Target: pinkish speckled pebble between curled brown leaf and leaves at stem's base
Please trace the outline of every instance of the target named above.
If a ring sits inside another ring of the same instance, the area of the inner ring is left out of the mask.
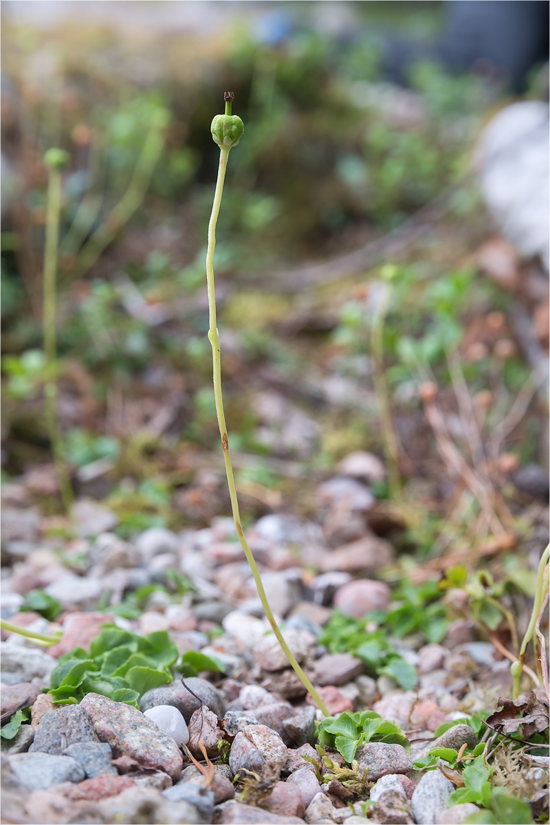
[[[287,759],[288,751],[278,733],[266,725],[249,724],[233,740],[229,766],[234,774],[246,768],[265,781],[279,780]]]

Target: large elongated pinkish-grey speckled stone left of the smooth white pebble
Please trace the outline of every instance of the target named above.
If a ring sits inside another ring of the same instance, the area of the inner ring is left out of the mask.
[[[172,780],[181,774],[183,759],[176,742],[138,709],[96,693],[88,693],[80,707],[87,710],[101,742],[109,742],[115,758],[125,754],[143,768],[165,771]]]

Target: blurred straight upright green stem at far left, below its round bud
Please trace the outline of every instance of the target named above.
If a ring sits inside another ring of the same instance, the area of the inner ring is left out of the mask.
[[[57,288],[56,276],[58,267],[59,247],[59,213],[61,211],[61,171],[59,168],[49,169],[48,204],[46,210],[46,237],[44,251],[44,352],[45,352],[45,416],[48,427],[49,441],[54,453],[55,470],[57,473],[59,492],[63,507],[67,514],[73,506],[73,488],[68,476],[67,462],[63,449],[63,439],[59,430],[58,392],[56,379],[57,358],[57,328],[56,304]]]

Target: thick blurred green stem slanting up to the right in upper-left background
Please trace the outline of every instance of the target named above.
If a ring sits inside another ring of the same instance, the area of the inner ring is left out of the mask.
[[[82,277],[96,263],[101,252],[111,243],[116,234],[128,223],[139,209],[153,177],[154,168],[162,154],[165,142],[165,128],[153,125],[143,143],[143,148],[134,168],[128,189],[117,205],[110,210],[100,226],[92,234],[79,252],[73,276]]]

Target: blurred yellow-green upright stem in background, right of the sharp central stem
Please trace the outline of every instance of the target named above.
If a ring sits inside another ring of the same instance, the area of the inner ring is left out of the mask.
[[[393,501],[401,502],[401,476],[397,462],[397,438],[393,429],[388,381],[386,380],[383,366],[383,329],[391,298],[392,290],[388,287],[387,293],[383,295],[380,304],[375,309],[370,339],[374,367],[374,390],[378,402],[378,417],[380,419],[383,449],[388,467],[389,493]]]

